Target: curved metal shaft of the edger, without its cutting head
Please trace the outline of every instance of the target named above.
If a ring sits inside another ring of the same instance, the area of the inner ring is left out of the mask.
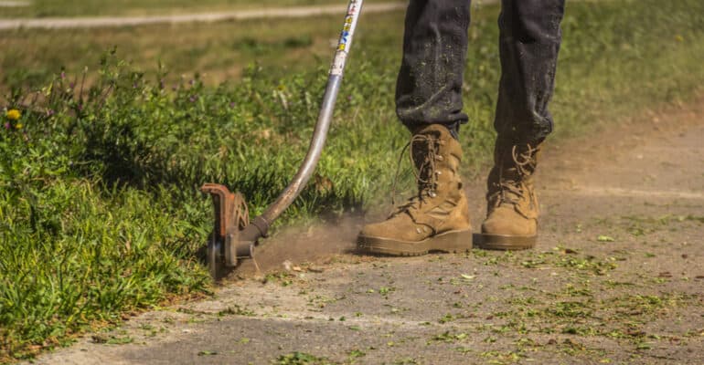
[[[352,36],[354,35],[355,28],[357,27],[357,19],[362,8],[362,2],[363,0],[350,0],[349,5],[347,6],[345,24],[337,45],[335,59],[332,67],[330,68],[329,77],[327,78],[327,86],[325,87],[323,103],[320,107],[320,113],[318,114],[318,120],[315,124],[313,139],[311,140],[310,147],[308,148],[308,153],[305,155],[304,162],[298,169],[298,173],[296,173],[293,177],[292,182],[289,183],[276,201],[272,203],[263,214],[261,214],[261,217],[259,217],[260,220],[264,221],[263,223],[260,221],[260,224],[267,225],[266,228],[259,227],[260,229],[264,228],[264,231],[268,229],[268,225],[272,224],[272,222],[278,218],[304,190],[305,184],[308,183],[308,180],[310,180],[311,175],[315,171],[315,166],[320,160],[320,153],[323,151],[323,147],[325,146],[327,131],[330,129],[330,122],[333,119],[333,111],[335,110],[337,93],[339,92],[340,85],[342,83],[342,74],[345,69],[345,64],[347,63],[349,48],[352,46]],[[254,223],[257,224],[257,220],[255,220]],[[266,232],[261,232],[261,235],[266,235]]]

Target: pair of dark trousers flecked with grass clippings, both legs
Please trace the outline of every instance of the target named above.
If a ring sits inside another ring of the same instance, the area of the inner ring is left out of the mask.
[[[494,127],[501,139],[542,141],[552,131],[548,102],[555,83],[564,0],[502,0]],[[470,0],[411,0],[406,13],[396,113],[409,129],[467,121],[462,82]]]

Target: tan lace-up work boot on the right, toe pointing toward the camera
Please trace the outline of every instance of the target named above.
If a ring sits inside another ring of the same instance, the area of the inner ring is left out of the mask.
[[[486,182],[486,219],[476,243],[480,248],[523,250],[536,245],[539,212],[533,173],[539,151],[539,143],[496,141],[494,168]]]

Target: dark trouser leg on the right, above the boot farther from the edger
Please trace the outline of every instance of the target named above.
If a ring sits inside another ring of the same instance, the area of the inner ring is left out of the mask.
[[[494,127],[500,137],[539,142],[552,131],[565,0],[503,0],[498,25],[501,80]]]

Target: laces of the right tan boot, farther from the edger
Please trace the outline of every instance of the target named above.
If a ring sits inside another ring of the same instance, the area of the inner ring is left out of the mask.
[[[497,197],[496,206],[502,203],[517,204],[524,197],[523,182],[535,171],[535,155],[539,151],[539,147],[534,148],[530,144],[526,146],[525,151],[519,151],[518,146],[514,145],[511,149],[513,166],[508,169],[501,166],[499,169],[499,189],[491,196],[492,199]]]

